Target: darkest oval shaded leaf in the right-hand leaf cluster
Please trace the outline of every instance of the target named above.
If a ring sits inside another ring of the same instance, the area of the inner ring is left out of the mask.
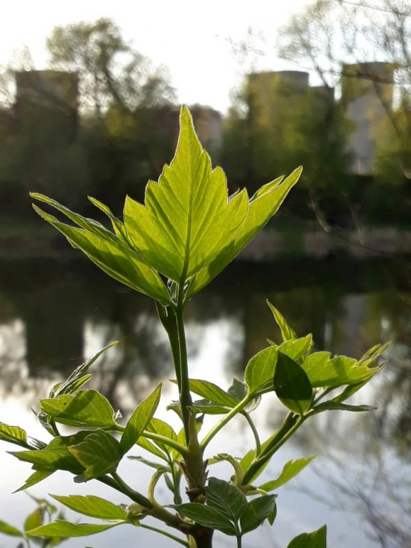
[[[312,388],[306,372],[286,354],[278,352],[274,375],[274,390],[288,409],[305,414],[312,401]]]

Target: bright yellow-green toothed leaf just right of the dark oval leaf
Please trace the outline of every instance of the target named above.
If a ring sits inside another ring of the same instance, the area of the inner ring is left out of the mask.
[[[301,367],[306,371],[314,388],[321,386],[337,388],[345,384],[358,384],[370,379],[379,371],[378,367],[369,369],[366,365],[360,365],[357,360],[347,356],[329,359],[328,352],[311,354],[301,363]]]

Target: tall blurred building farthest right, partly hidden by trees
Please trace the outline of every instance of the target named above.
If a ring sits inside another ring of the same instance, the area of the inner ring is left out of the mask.
[[[385,62],[343,65],[341,100],[353,126],[348,137],[353,173],[374,171],[378,133],[393,109],[394,70]]]

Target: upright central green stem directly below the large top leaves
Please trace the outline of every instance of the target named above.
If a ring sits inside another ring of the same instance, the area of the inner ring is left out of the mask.
[[[184,284],[180,283],[177,291],[177,307],[175,308],[175,320],[177,324],[177,337],[179,345],[179,401],[182,406],[182,419],[184,433],[186,434],[186,444],[190,443],[190,410],[192,399],[190,394],[190,383],[188,382],[188,362],[186,333],[184,331]]]

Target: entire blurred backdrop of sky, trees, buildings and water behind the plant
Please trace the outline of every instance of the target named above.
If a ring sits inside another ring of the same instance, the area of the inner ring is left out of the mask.
[[[28,192],[104,222],[92,195],[121,216],[125,195],[144,199],[170,162],[186,103],[231,192],[304,166],[275,219],[190,303],[192,376],[229,386],[267,337],[279,340],[266,297],[317,349],[359,358],[392,341],[358,400],[377,410],[312,419],[266,469],[319,455],[245,548],[285,547],[325,522],[333,548],[410,547],[410,1],[16,0],[3,6],[0,64],[0,421],[47,437],[30,408],[112,340],[92,383],[123,415],[171,377],[153,303],[71,249]],[[281,419],[270,397],[256,411],[266,436]],[[241,456],[249,439],[239,420],[210,451]],[[11,493],[29,470],[5,449],[0,519],[21,526],[34,503]],[[140,464],[123,471],[145,488]],[[126,502],[64,473],[32,489],[47,493]],[[219,547],[231,540],[216,535]],[[66,546],[85,542],[173,545],[130,526]],[[0,547],[17,545],[0,534]]]

